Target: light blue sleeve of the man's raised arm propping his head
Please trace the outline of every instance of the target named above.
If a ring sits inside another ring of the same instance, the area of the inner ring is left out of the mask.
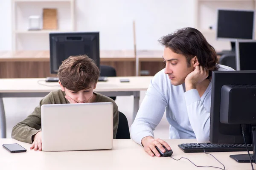
[[[198,142],[209,142],[210,113],[204,107],[196,89],[184,93],[189,122]]]

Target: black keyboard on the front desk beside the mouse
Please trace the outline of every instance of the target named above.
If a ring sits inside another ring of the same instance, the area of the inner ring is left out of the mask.
[[[245,144],[212,144],[212,143],[186,143],[178,144],[181,150],[185,153],[195,152],[233,152],[247,151]],[[253,150],[253,144],[247,144],[249,151]]]

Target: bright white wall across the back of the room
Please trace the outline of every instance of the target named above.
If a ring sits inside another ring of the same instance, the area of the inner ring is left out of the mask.
[[[195,10],[199,10],[198,26],[207,29],[216,23],[217,8],[254,9],[253,1],[199,1],[197,0],[75,0],[77,31],[100,31],[101,50],[131,50],[133,25],[136,22],[138,50],[158,50],[157,40],[182,27],[196,27]],[[18,3],[17,29],[27,30],[29,15],[41,15],[42,8],[58,8],[59,28],[70,25],[67,2]],[[0,0],[0,50],[12,47],[11,0]],[[201,31],[201,30],[200,30]],[[203,32],[217,51],[230,49],[230,42],[215,40],[214,32]],[[20,34],[18,49],[48,50],[48,34]]]

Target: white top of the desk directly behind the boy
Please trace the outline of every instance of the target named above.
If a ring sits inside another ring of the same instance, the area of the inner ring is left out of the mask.
[[[130,82],[120,82],[129,79]],[[98,82],[95,91],[146,91],[152,77],[108,77],[107,82]],[[0,93],[50,92],[58,90],[58,82],[45,82],[39,79],[0,79]]]

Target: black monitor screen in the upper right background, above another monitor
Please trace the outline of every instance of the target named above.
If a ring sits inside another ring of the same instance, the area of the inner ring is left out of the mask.
[[[218,10],[217,38],[253,39],[254,11]]]

